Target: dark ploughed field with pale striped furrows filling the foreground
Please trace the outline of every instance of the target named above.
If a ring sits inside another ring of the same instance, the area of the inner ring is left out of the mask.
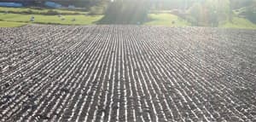
[[[0,121],[256,121],[256,31],[0,29]]]

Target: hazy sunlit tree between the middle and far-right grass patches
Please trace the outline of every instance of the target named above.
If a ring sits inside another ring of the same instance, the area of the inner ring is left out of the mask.
[[[230,0],[205,0],[189,8],[189,21],[195,26],[218,26],[224,20],[232,20]]]

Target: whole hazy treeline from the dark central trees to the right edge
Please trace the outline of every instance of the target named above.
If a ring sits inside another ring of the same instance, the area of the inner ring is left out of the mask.
[[[255,0],[102,0],[108,5],[101,22],[105,24],[137,24],[147,20],[148,12],[176,10],[175,14],[195,26],[218,26],[221,21],[232,22],[233,10],[247,8],[244,16],[256,21]],[[101,1],[101,3],[103,3]],[[100,3],[100,4],[101,4]],[[103,3],[104,4],[104,3]],[[254,4],[254,6],[253,6]],[[102,4],[101,4],[102,5]],[[254,13],[254,15],[253,15]]]

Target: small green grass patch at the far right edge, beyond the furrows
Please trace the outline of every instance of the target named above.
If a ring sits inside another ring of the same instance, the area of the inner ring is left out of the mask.
[[[256,25],[253,24],[253,22],[244,18],[239,18],[239,17],[234,17],[232,22],[225,21],[223,24],[220,24],[219,27],[256,29]]]

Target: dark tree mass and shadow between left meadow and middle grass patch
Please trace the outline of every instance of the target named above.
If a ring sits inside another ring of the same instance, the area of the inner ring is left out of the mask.
[[[142,24],[147,20],[148,9],[146,0],[118,0],[109,3],[104,17],[96,24]]]

